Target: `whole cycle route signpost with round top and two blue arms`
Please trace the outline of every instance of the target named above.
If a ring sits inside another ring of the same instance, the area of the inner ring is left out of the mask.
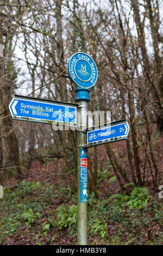
[[[37,99],[15,95],[9,109],[13,119],[46,124],[63,124],[78,129],[78,245],[87,245],[87,148],[127,139],[129,125],[120,120],[101,127],[87,129],[89,92],[97,81],[98,71],[93,59],[77,52],[68,60],[68,74],[76,84],[78,103]],[[77,114],[78,113],[78,114]]]

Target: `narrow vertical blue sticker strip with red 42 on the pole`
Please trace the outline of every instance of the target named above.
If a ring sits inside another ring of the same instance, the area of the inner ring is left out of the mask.
[[[87,149],[80,149],[80,202],[87,202]]]

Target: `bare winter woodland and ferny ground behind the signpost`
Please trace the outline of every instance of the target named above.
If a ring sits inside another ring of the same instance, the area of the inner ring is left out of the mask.
[[[14,94],[74,102],[67,62],[78,51],[98,68],[89,110],[130,125],[127,141],[89,149],[89,243],[162,243],[162,10],[161,0],[0,2],[0,243],[76,241],[77,131],[13,121],[8,106]]]

